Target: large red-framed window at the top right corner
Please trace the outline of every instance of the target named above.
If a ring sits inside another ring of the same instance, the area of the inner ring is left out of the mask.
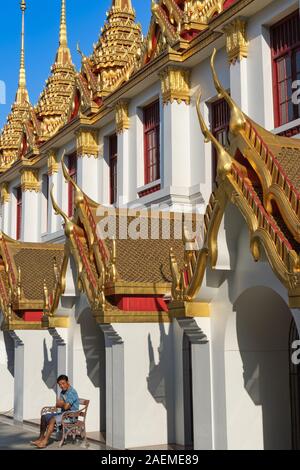
[[[292,102],[293,82],[300,79],[299,11],[271,28],[275,127],[300,117],[300,106]]]

